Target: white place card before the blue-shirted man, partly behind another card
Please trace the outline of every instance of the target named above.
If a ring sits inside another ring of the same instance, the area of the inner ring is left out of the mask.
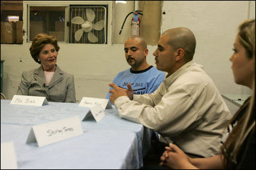
[[[93,108],[97,104],[101,104],[101,107],[103,110],[112,108],[109,99],[100,99],[100,98],[93,98],[93,97],[83,97],[83,99],[79,103],[79,106]]]

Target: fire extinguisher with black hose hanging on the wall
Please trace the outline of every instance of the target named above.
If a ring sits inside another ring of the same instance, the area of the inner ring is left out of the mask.
[[[133,13],[133,17],[132,17],[132,21],[131,21],[131,27],[132,27],[132,35],[140,35],[140,17],[139,17],[139,14],[140,15],[143,15],[142,13],[140,13],[138,10],[136,11],[132,11],[130,13],[128,13],[128,15],[126,15],[125,17],[125,20],[124,20],[124,23],[122,25],[122,28],[120,29],[120,32],[119,34],[121,34],[122,30],[123,30],[123,27],[124,27],[124,24],[125,24],[125,21],[127,19],[127,17]]]

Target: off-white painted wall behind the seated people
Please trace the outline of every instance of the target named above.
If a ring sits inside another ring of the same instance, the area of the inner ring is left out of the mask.
[[[115,25],[118,25],[116,28],[122,26],[129,10],[113,9],[115,15],[122,15],[112,22],[113,37]],[[191,29],[197,41],[195,61],[204,65],[221,93],[250,93],[250,90],[234,83],[228,59],[232,54],[237,26],[246,18],[255,18],[255,1],[163,1],[163,11],[166,14],[161,13],[160,32],[172,27]],[[26,19],[25,10],[23,18]],[[112,45],[60,43],[58,65],[74,74],[77,102],[84,96],[105,98],[108,83],[118,72],[129,67],[124,57],[123,40],[116,40]],[[1,45],[1,59],[5,60],[3,93],[8,99],[12,99],[17,91],[22,71],[39,66],[29,54],[30,45],[25,40],[22,45]],[[148,49],[148,63],[155,66],[152,53],[156,45],[149,45]]]

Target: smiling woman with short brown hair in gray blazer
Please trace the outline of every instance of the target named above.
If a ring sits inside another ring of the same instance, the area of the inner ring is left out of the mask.
[[[55,36],[37,34],[29,48],[31,56],[41,64],[37,69],[24,71],[17,95],[46,97],[47,101],[76,103],[74,75],[57,66],[60,46]]]

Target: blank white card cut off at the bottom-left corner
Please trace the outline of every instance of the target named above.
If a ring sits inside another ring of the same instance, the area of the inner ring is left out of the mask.
[[[1,169],[18,169],[13,142],[1,143]]]

